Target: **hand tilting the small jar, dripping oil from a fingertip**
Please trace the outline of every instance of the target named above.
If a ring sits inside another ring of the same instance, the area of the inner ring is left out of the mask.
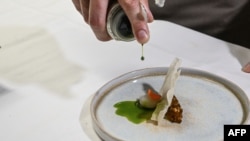
[[[109,41],[111,37],[106,30],[106,17],[109,0],[72,0],[76,9],[81,13],[85,22],[90,25],[96,38]],[[144,44],[149,40],[147,23],[153,21],[153,15],[148,6],[148,0],[118,0],[130,20],[136,40]],[[141,5],[145,8],[143,16]]]

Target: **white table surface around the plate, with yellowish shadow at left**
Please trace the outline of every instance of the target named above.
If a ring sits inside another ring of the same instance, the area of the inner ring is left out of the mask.
[[[250,97],[244,47],[155,21],[141,61],[136,41],[98,41],[69,0],[1,0],[0,7],[0,140],[93,140],[80,124],[90,97],[119,75],[176,57]]]

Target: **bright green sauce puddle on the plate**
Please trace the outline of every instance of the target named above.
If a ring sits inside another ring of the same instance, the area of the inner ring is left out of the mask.
[[[151,118],[154,109],[139,107],[137,101],[122,101],[114,105],[116,114],[126,117],[129,121],[139,124]]]

